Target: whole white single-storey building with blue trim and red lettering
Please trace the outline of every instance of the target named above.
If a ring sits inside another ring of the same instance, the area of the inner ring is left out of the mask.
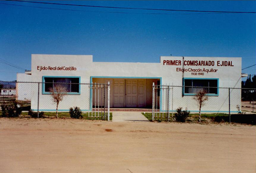
[[[111,108],[151,108],[153,82],[155,85],[240,88],[241,58],[160,57],[160,62],[157,63],[140,63],[93,62],[91,55],[32,54],[31,75],[17,74],[17,81],[29,81],[30,78],[32,82],[70,82],[69,93],[59,105],[59,111],[68,111],[73,106],[80,107],[82,111],[90,110],[92,91],[88,86],[76,87],[72,83],[92,82],[110,82]],[[37,109],[38,106],[37,86],[38,84],[31,85],[27,89],[31,91],[32,109]],[[55,105],[51,103],[48,91],[50,86],[43,83],[39,87],[40,111],[54,111]],[[17,88],[20,94],[20,86]],[[173,94],[170,93],[173,96],[173,109],[183,107],[192,112],[197,111],[193,100],[195,92],[182,88],[175,88]],[[29,98],[21,95],[21,99]],[[228,90],[212,89],[208,96],[208,104],[202,112],[229,111]],[[164,110],[162,95],[159,99],[160,109]],[[241,91],[237,91],[232,100],[231,112],[236,112],[236,105],[241,105]]]

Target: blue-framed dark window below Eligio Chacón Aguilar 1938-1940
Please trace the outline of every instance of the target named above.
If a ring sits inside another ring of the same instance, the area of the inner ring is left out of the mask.
[[[198,79],[184,78],[183,79],[183,95],[195,95],[198,91],[205,90],[209,96],[218,96],[218,79]],[[204,88],[205,87],[205,88]]]

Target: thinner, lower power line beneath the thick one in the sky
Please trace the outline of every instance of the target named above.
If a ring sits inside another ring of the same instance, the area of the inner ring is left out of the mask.
[[[11,6],[23,6],[17,4],[9,4],[9,3],[0,3],[4,5],[11,5]],[[38,7],[38,6],[23,6],[23,7],[32,7],[32,8],[39,8],[39,9],[54,9],[54,10],[65,10],[65,11],[84,11],[84,12],[99,12],[99,13],[120,13],[120,14],[224,14],[224,13],[134,13],[134,12],[113,12],[113,11],[88,11],[88,10],[73,10],[73,9],[60,9],[60,8],[49,8],[49,7]],[[227,13],[225,13],[227,14]],[[230,13],[231,14],[231,13]]]

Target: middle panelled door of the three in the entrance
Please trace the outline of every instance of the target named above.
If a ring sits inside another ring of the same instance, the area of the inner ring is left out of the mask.
[[[126,79],[125,82],[125,107],[137,108],[137,91],[138,91],[137,79]]]

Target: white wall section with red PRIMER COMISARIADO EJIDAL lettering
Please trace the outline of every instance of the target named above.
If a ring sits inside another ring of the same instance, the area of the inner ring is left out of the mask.
[[[164,60],[180,60],[181,65],[163,65]],[[183,61],[188,60],[204,60],[214,61],[214,66],[182,66]],[[217,62],[232,61],[233,66],[218,66]],[[227,58],[227,57],[161,57],[163,71],[170,71],[169,75],[163,77],[162,84],[173,84],[182,86],[183,78],[217,78],[219,87],[227,89],[219,89],[218,96],[209,96],[208,101],[202,108],[203,112],[228,112],[229,111],[229,93],[228,88],[241,88],[241,58]],[[215,69],[216,72],[204,72],[204,75],[193,75],[192,72],[180,72],[177,68],[193,68],[193,69]],[[173,109],[178,107],[188,108],[192,112],[198,112],[198,106],[193,99],[193,96],[182,96],[182,88],[173,88]],[[171,93],[172,94],[172,91]],[[163,94],[164,95],[164,94]],[[237,112],[236,105],[241,105],[241,90],[231,90],[230,107],[232,112]],[[172,104],[172,103],[171,103]],[[170,105],[171,106],[171,105]],[[162,108],[166,105],[163,103]]]

